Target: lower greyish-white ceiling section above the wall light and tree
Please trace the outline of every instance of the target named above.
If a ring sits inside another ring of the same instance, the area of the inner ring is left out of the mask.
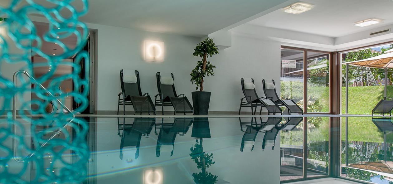
[[[88,23],[201,37],[287,0],[90,0]]]

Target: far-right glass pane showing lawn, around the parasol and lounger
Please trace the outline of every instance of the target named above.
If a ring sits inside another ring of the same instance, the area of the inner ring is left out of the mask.
[[[385,70],[367,66],[348,65],[347,62],[368,59],[387,53],[393,44],[341,53],[342,64],[342,113],[346,109],[346,82],[348,81],[348,114],[371,114],[371,110],[384,97]],[[393,97],[393,69],[387,68],[387,97]],[[366,100],[359,100],[366,99]]]

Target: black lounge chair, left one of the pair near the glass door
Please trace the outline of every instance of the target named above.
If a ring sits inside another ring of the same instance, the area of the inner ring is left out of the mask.
[[[248,80],[250,81],[245,82],[244,78],[240,79],[244,98],[240,99],[239,115],[242,107],[251,107],[251,114],[254,115],[258,106],[261,106],[259,114],[262,112],[262,107],[265,107],[268,110],[268,114],[283,114],[281,108],[272,99],[268,99],[266,97],[259,98],[255,91],[254,79],[248,78]],[[246,99],[246,101],[243,101],[244,99]],[[253,108],[255,108],[255,110],[253,110]]]

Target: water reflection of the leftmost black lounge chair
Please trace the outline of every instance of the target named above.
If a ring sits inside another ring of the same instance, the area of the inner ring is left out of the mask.
[[[120,142],[120,159],[123,160],[123,155],[133,154],[134,158],[139,156],[139,148],[141,143],[142,135],[148,136],[153,128],[156,118],[134,118],[132,124],[125,124],[125,118],[123,119],[123,124],[119,123],[118,118],[118,130],[123,130]],[[127,151],[124,151],[126,149]],[[127,154],[126,154],[127,153]]]

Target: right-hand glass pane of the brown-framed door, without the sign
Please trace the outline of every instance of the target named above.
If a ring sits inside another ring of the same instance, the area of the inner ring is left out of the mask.
[[[307,112],[330,112],[330,54],[307,51]]]

